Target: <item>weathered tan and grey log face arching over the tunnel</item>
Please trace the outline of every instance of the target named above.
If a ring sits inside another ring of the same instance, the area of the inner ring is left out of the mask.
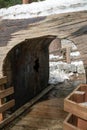
[[[83,11],[34,19],[1,20],[0,75],[2,76],[3,60],[14,46],[25,39],[46,35],[55,35],[75,42],[85,68],[87,67],[87,11]]]

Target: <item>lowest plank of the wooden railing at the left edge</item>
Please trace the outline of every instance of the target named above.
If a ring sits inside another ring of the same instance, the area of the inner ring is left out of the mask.
[[[0,105],[0,113],[8,110],[9,108],[13,107],[15,105],[15,100],[12,99],[11,101],[4,103],[2,105]]]

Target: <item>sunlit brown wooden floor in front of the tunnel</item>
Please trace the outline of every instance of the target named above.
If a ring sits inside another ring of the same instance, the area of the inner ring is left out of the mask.
[[[40,100],[8,130],[62,130],[67,115],[63,110],[63,101],[63,98]]]

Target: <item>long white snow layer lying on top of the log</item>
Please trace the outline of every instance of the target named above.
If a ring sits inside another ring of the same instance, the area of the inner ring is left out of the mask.
[[[0,9],[3,19],[23,19],[87,10],[87,0],[45,0]]]

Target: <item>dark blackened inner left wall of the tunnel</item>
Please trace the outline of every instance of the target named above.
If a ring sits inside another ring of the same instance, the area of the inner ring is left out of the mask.
[[[8,86],[14,86],[15,107],[20,108],[48,85],[50,42],[55,36],[27,39],[12,50],[4,59],[3,75]]]

